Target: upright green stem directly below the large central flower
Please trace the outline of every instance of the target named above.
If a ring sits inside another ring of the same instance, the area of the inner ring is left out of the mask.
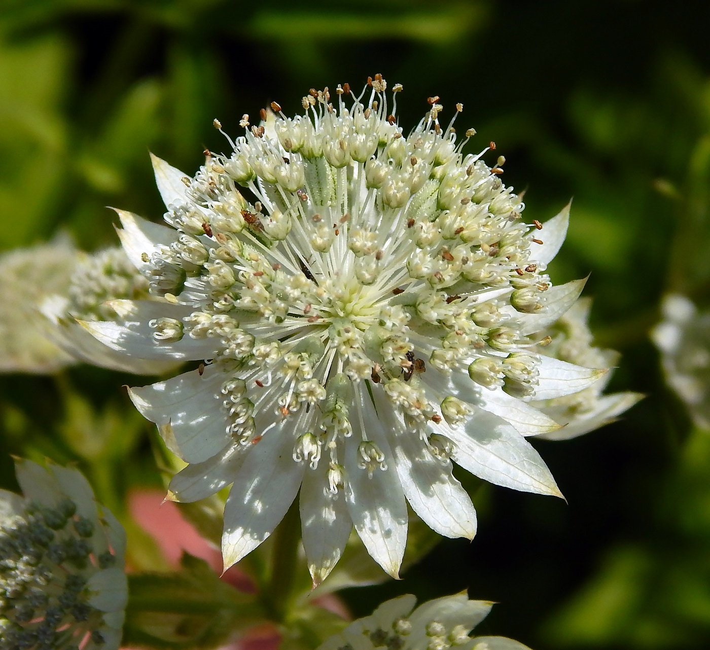
[[[293,600],[298,543],[301,539],[298,500],[294,500],[273,536],[271,575],[264,591],[273,620],[284,622]]]

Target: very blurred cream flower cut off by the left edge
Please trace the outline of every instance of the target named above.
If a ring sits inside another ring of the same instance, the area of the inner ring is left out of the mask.
[[[0,373],[54,373],[75,363],[48,338],[38,304],[66,295],[79,253],[68,238],[0,255]]]

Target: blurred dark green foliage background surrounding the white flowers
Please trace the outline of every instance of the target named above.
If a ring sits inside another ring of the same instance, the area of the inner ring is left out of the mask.
[[[4,0],[0,250],[62,230],[114,244],[107,205],[159,219],[148,150],[191,174],[226,148],[214,118],[237,135],[268,101],[293,113],[311,87],[376,72],[403,84],[405,128],[427,97],[461,101],[457,126],[478,131],[467,150],[496,142],[528,223],[574,197],[551,275],[591,273],[596,341],[623,353],[611,388],[649,397],[537,444],[569,505],[486,487],[473,543],[343,596],[364,615],[469,588],[501,603],[479,634],[537,650],[706,649],[710,434],[665,389],[648,329],[667,290],[710,304],[709,27],[707,4],[642,0]],[[126,382],[86,367],[0,378],[0,482],[10,453],[35,453],[80,460],[118,511],[126,487],[160,485]]]

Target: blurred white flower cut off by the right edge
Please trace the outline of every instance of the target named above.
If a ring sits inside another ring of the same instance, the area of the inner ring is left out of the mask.
[[[710,429],[710,312],[669,294],[661,303],[663,320],[651,332],[661,352],[665,380],[684,402],[693,422]]]

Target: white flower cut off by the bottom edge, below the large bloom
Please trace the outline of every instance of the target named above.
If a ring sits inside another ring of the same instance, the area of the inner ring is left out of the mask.
[[[458,594],[413,610],[416,602],[409,594],[383,602],[371,616],[352,622],[318,650],[529,650],[505,637],[469,637],[491,611],[492,602]]]

